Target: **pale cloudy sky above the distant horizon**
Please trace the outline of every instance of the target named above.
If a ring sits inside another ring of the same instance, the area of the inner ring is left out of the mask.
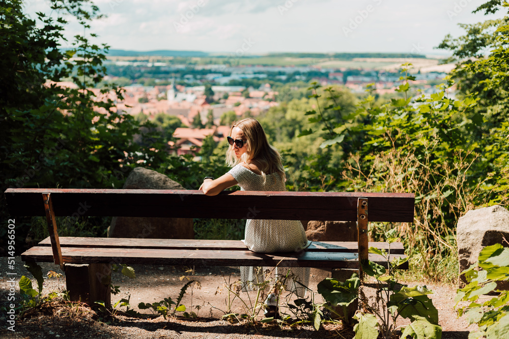
[[[271,52],[398,52],[435,49],[459,23],[505,14],[471,12],[487,0],[95,0],[96,43],[136,51],[192,50],[237,55]],[[28,13],[49,13],[27,0]],[[82,33],[77,24],[67,35]]]

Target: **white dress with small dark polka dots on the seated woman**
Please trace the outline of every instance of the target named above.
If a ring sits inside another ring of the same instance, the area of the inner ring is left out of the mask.
[[[285,183],[278,173],[266,175],[264,183],[263,176],[252,172],[241,164],[232,168],[229,172],[242,191],[286,191]],[[247,248],[257,253],[297,252],[301,251],[311,241],[307,240],[302,224],[298,220],[262,220],[248,219],[246,222],[245,239],[242,240]],[[299,297],[304,296],[305,288],[296,284],[298,281],[304,286],[309,284],[309,267],[288,268],[267,267],[269,271],[274,270],[277,279],[283,281],[287,291],[296,291]],[[241,280],[244,283],[244,290],[249,290],[250,283],[258,284],[267,279],[264,273],[267,270],[261,267],[241,267]],[[293,279],[286,279],[290,276]]]

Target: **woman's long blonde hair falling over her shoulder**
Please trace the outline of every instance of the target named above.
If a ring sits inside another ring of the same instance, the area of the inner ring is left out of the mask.
[[[266,174],[272,173],[278,173],[279,177],[285,182],[285,169],[281,162],[281,155],[276,148],[269,144],[260,122],[253,118],[236,121],[230,129],[230,136],[232,136],[232,131],[235,127],[241,129],[244,137],[247,139],[247,143],[244,144],[244,147],[247,147],[247,149],[241,158],[237,159],[233,147],[228,147],[226,163],[234,167],[240,162],[249,164],[256,161],[258,169],[262,172],[264,182]]]

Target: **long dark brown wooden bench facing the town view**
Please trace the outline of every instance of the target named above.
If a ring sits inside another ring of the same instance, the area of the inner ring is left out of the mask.
[[[66,274],[71,300],[110,303],[111,264],[280,266],[359,269],[359,260],[386,266],[369,254],[371,222],[413,222],[414,195],[224,191],[206,196],[187,190],[8,189],[11,216],[45,216],[49,237],[21,254],[25,262],[54,262]],[[313,242],[300,253],[261,254],[240,240],[59,237],[55,217],[123,216],[221,219],[357,221],[358,242]],[[401,242],[390,256],[405,257]],[[408,268],[405,263],[401,268]],[[361,276],[362,276],[362,271]]]

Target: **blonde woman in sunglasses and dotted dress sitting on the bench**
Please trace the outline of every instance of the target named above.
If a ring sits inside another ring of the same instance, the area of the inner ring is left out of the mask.
[[[206,177],[200,190],[206,195],[216,195],[232,186],[240,186],[242,191],[286,191],[285,170],[281,164],[279,152],[269,144],[260,122],[247,118],[235,122],[228,136],[231,147],[226,153],[226,162],[233,168],[217,179]],[[235,208],[232,205],[232,208]],[[298,252],[311,241],[307,240],[304,228],[298,220],[256,220],[246,222],[245,239],[247,248],[257,253]],[[275,268],[275,275],[282,281],[287,275],[290,282],[285,281],[287,291],[295,291],[299,297],[305,294],[304,286],[309,283],[309,267],[293,267],[291,274],[288,269]],[[282,270],[282,272],[281,272]],[[264,269],[260,267],[241,267],[243,290],[249,290],[249,283],[264,281]],[[298,285],[298,286],[297,286]],[[269,294],[265,303],[266,317],[279,317],[277,310],[277,284]]]

